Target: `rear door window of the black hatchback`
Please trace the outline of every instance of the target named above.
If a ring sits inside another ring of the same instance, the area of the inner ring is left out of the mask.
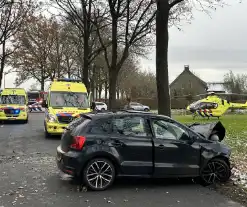
[[[125,136],[146,137],[145,119],[142,117],[120,117],[113,119],[113,133]]]

